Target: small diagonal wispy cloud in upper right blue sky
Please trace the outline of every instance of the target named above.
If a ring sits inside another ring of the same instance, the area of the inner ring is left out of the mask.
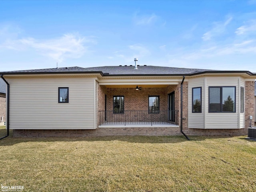
[[[232,17],[229,17],[224,22],[214,22],[214,27],[209,30],[208,32],[204,33],[202,39],[204,41],[211,40],[215,36],[219,36],[223,34],[226,30],[226,26],[232,21]]]

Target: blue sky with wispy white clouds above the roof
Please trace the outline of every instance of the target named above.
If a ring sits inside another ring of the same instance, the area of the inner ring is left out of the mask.
[[[0,0],[0,71],[134,58],[256,72],[256,0]]]

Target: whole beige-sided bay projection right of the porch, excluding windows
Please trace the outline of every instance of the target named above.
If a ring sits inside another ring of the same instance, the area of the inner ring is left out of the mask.
[[[209,86],[236,87],[236,112],[209,113]],[[192,113],[192,88],[202,87],[202,113]],[[245,88],[243,78],[202,77],[190,78],[188,82],[188,128],[237,129],[245,126],[245,112],[240,113],[240,87]]]

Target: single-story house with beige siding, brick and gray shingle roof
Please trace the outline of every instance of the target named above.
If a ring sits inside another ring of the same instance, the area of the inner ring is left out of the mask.
[[[0,72],[14,136],[246,135],[249,71],[160,66]],[[254,125],[253,125],[254,126]]]

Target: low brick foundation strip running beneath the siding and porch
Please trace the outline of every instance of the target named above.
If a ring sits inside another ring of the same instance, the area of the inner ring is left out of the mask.
[[[247,135],[245,129],[189,129],[188,136],[240,136]],[[13,137],[97,137],[97,136],[176,136],[182,135],[180,128],[143,127],[143,128],[98,128],[90,130],[13,130]]]

